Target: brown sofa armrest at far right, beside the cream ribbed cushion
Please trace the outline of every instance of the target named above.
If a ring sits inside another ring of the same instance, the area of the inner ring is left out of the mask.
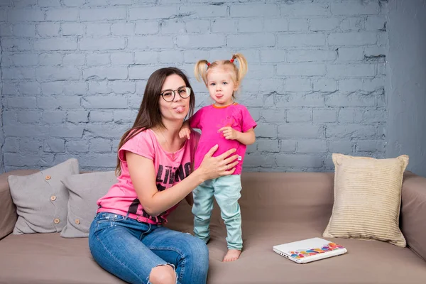
[[[426,178],[404,174],[400,215],[408,246],[426,261]]]

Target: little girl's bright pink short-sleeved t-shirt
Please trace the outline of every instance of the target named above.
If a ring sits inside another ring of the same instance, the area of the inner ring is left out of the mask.
[[[257,124],[251,117],[249,110],[241,104],[234,103],[227,107],[216,107],[212,104],[197,111],[190,118],[190,127],[192,129],[201,129],[202,132],[195,152],[195,169],[200,166],[204,155],[214,145],[218,144],[219,148],[214,153],[214,157],[231,148],[236,148],[236,154],[240,158],[234,175],[241,174],[247,146],[236,140],[226,140],[222,131],[219,132],[219,129],[224,126],[231,126],[236,131],[246,132],[251,128],[255,128]]]

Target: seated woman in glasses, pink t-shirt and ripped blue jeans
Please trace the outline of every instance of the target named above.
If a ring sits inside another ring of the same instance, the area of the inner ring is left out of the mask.
[[[195,107],[185,74],[173,67],[153,72],[133,127],[119,143],[117,182],[97,204],[89,248],[102,268],[129,283],[205,283],[204,242],[165,228],[168,214],[205,180],[234,173],[235,149],[205,155],[192,172],[198,134],[179,138]],[[192,173],[191,173],[192,172]]]

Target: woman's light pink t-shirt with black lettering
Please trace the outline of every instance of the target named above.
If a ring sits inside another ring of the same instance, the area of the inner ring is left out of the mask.
[[[174,155],[161,148],[155,133],[151,129],[141,131],[131,138],[119,149],[121,175],[117,178],[116,184],[109,189],[107,195],[97,201],[99,207],[97,212],[111,212],[124,216],[129,214],[129,217],[133,219],[151,224],[166,223],[168,214],[178,207],[178,204],[156,217],[150,216],[143,210],[131,182],[126,162],[126,151],[153,160],[157,189],[163,191],[168,190],[169,187],[190,175],[191,160],[194,159],[199,138],[200,134],[191,133],[191,139],[186,141],[185,145]]]

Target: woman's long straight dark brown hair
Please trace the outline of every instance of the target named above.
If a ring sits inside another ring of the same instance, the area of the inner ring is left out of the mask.
[[[121,175],[121,163],[119,158],[119,149],[121,146],[123,146],[127,141],[136,136],[138,133],[141,133],[141,131],[151,129],[154,126],[164,127],[163,121],[161,120],[158,99],[160,98],[161,89],[163,88],[165,79],[170,75],[178,75],[185,82],[186,87],[191,88],[190,111],[188,112],[188,116],[191,117],[192,114],[194,114],[195,94],[192,91],[190,81],[186,77],[185,73],[175,67],[161,68],[153,72],[153,74],[149,77],[148,82],[146,83],[141,107],[139,108],[136,120],[131,129],[126,131],[124,135],[121,136],[121,141],[117,149],[117,165],[115,170],[117,176]]]

